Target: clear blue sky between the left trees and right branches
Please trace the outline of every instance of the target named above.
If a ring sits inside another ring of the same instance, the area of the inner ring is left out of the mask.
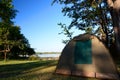
[[[63,16],[59,4],[51,6],[51,3],[52,0],[13,0],[19,11],[15,25],[21,27],[21,33],[35,51],[60,52],[65,46],[62,39],[66,37],[58,34],[61,28],[57,24],[69,24],[71,19]]]

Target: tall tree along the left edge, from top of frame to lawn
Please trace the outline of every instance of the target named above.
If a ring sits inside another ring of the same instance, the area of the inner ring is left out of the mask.
[[[8,37],[15,15],[16,10],[12,5],[12,0],[0,0],[0,45],[2,46],[0,52],[4,52],[5,60],[7,52],[10,51],[10,45],[13,44]]]

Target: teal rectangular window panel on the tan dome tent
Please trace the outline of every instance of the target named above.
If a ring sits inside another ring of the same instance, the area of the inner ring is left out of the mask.
[[[91,40],[76,41],[74,51],[75,64],[92,64]]]

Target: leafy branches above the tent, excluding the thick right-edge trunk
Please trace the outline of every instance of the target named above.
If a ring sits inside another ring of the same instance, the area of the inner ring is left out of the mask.
[[[67,26],[68,31],[72,27],[76,27],[79,30],[96,34],[99,27],[102,27],[106,35],[106,42],[111,39],[111,35],[113,35],[112,19],[105,0],[53,0],[53,3],[55,2],[63,6],[64,16],[72,19]]]

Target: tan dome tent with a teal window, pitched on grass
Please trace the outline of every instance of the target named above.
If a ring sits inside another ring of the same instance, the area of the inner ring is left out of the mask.
[[[108,49],[96,37],[82,34],[63,49],[55,73],[103,79],[118,79],[117,69]]]

